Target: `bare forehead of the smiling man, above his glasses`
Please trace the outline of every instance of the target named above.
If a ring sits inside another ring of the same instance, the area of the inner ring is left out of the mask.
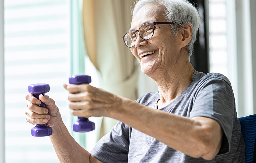
[[[158,4],[146,4],[134,15],[131,30],[134,31],[145,23],[165,21],[163,15],[164,9],[162,6]]]

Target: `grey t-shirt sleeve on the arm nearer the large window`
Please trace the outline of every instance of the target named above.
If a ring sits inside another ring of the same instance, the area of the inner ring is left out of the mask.
[[[102,162],[127,162],[129,150],[129,126],[118,121],[90,151]]]

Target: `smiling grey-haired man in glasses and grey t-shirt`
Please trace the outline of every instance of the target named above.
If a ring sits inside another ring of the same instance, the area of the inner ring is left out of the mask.
[[[140,0],[123,40],[158,91],[133,101],[88,84],[64,85],[72,115],[119,120],[90,153],[71,137],[48,96],[39,97],[48,110],[26,96],[27,121],[53,128],[61,162],[244,162],[230,82],[189,62],[198,28],[197,9],[186,0]]]

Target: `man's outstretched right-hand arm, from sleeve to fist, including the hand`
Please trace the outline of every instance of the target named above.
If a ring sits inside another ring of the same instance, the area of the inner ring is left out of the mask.
[[[211,118],[187,118],[154,110],[88,84],[64,85],[75,116],[107,116],[155,137],[191,157],[211,160],[221,147],[222,129]]]

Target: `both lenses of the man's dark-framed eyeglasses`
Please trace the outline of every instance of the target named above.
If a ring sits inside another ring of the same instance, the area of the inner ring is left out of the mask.
[[[139,28],[139,35],[142,39],[144,40],[148,40],[153,36],[154,33],[154,29],[150,24],[145,24],[142,25]],[[138,35],[137,35],[138,36]],[[128,32],[126,33],[126,35],[124,36],[124,42],[128,47],[132,47],[135,45],[136,42],[136,38],[137,36],[135,36],[134,32]]]

